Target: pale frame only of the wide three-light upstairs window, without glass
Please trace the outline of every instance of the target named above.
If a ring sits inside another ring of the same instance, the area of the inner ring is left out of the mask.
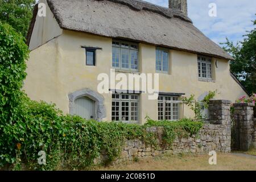
[[[114,43],[119,43],[119,45],[116,45]],[[128,47],[122,47],[122,43],[128,44]],[[134,48],[132,46],[137,46],[137,48]],[[113,66],[113,57],[112,57],[112,68],[118,69],[118,70],[124,70],[124,71],[139,71],[139,44],[138,43],[133,43],[133,42],[127,42],[127,41],[122,41],[122,40],[112,40],[112,49],[113,48],[118,48],[119,49],[119,67],[114,67]],[[129,51],[129,68],[122,68],[122,55],[121,52],[122,50],[128,50]],[[131,68],[131,52],[132,51],[137,51],[137,69]],[[112,56],[113,56],[113,51],[112,51]]]

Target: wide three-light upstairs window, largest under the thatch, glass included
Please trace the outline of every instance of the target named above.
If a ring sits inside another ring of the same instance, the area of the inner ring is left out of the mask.
[[[139,47],[136,43],[113,40],[112,67],[127,71],[139,69]]]

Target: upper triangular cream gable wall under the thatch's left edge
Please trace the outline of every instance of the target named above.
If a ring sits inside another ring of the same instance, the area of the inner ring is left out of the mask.
[[[40,0],[39,3],[45,3],[47,5],[46,0]],[[36,22],[31,35],[29,48],[30,50],[33,50],[61,34],[62,29],[53,17],[49,6],[46,6],[46,16],[36,16]]]

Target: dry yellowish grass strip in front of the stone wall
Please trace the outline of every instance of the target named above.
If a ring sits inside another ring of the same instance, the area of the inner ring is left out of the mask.
[[[217,154],[217,165],[209,165],[208,155],[165,155],[155,159],[140,159],[139,162],[119,164],[117,166],[101,167],[97,170],[131,170],[131,171],[255,171],[256,159],[234,156],[232,154]]]

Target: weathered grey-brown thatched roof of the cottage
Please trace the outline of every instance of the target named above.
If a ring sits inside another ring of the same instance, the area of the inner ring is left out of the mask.
[[[59,26],[233,59],[181,11],[139,0],[47,0]]]

